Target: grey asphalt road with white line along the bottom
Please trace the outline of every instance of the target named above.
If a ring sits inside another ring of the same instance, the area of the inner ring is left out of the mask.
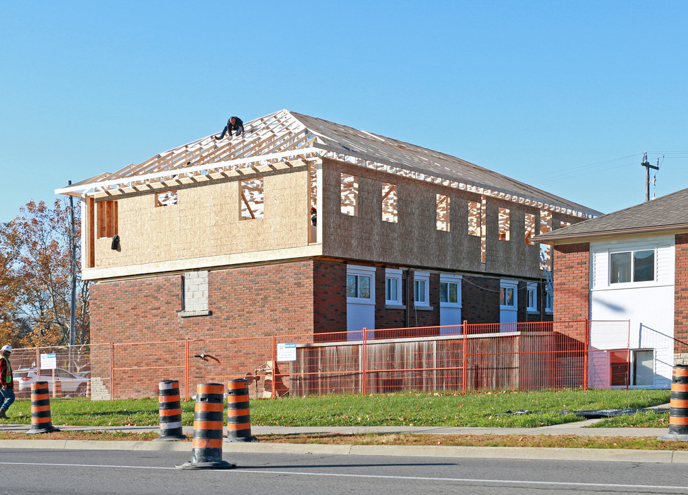
[[[186,452],[0,449],[0,494],[688,494],[685,465],[226,453],[233,470],[178,470]]]

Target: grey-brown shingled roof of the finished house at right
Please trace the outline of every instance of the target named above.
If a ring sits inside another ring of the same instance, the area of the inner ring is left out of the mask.
[[[533,237],[535,242],[557,244],[568,240],[608,235],[652,233],[688,229],[688,189],[636,204],[598,218],[585,220]]]

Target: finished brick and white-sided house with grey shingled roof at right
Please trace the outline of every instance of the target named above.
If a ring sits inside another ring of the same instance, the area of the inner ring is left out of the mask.
[[[592,386],[669,388],[688,364],[687,211],[683,189],[535,238],[554,245],[555,321],[593,321]]]

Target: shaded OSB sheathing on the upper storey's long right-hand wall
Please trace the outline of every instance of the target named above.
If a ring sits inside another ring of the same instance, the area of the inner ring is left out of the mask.
[[[340,211],[340,174],[358,178],[358,216]],[[382,185],[398,185],[398,223],[382,220]],[[436,194],[450,198],[450,231],[436,229]],[[539,210],[487,198],[487,261],[480,237],[468,234],[468,201],[480,195],[335,160],[323,160],[323,255],[385,264],[539,277],[537,245],[525,243],[525,213]],[[499,207],[510,211],[510,240],[498,238]],[[568,217],[566,217],[568,218]]]

